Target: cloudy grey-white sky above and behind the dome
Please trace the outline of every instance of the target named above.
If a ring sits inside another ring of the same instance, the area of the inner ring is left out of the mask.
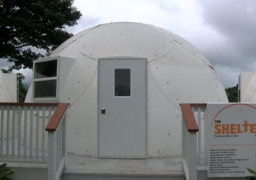
[[[236,86],[241,72],[256,71],[255,0],[75,0],[74,6],[83,16],[66,28],[70,33],[109,22],[152,24],[192,43],[226,88]],[[21,73],[25,83],[32,80],[31,71]]]

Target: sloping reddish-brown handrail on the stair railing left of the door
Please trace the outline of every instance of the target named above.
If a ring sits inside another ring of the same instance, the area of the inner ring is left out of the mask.
[[[56,131],[69,103],[60,103],[46,126],[46,131]]]

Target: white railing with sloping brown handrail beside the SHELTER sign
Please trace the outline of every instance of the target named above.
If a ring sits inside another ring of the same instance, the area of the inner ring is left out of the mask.
[[[206,105],[181,104],[182,165],[187,180],[197,179],[197,166],[206,164]]]

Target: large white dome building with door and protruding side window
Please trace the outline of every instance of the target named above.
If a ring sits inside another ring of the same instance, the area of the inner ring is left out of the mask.
[[[210,62],[156,26],[84,30],[34,61],[26,102],[69,102],[67,151],[99,158],[181,155],[180,103],[228,102]]]

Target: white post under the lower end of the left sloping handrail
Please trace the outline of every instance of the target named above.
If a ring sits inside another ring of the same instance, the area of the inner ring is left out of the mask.
[[[56,136],[55,132],[48,132],[48,180],[55,180],[56,174]]]

